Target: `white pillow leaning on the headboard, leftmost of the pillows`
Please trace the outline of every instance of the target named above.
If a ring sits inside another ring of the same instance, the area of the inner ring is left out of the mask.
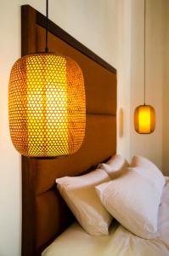
[[[60,194],[77,221],[90,235],[109,234],[112,217],[99,201],[95,186],[110,181],[109,175],[97,169],[82,176],[56,179]]]

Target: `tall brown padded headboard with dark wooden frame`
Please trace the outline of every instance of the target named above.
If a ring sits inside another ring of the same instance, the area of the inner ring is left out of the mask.
[[[29,5],[21,7],[22,55],[45,46],[46,18]],[[116,151],[116,71],[52,21],[49,51],[69,55],[82,67],[87,98],[87,126],[82,148],[53,160],[22,156],[22,256],[37,256],[72,222],[56,189],[56,177],[80,175]],[[92,38],[91,38],[92,40]]]

